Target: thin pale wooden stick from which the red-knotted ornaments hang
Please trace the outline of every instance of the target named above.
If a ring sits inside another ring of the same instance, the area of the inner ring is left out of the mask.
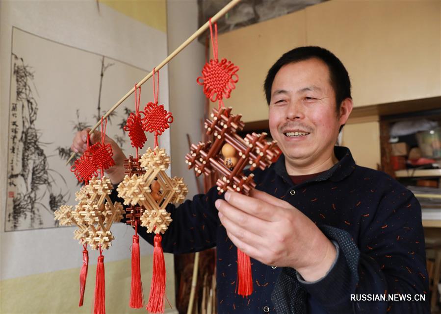
[[[224,6],[219,12],[217,12],[212,18],[211,18],[211,23],[216,22],[217,20],[219,20],[222,16],[224,16],[228,11],[230,11],[234,5],[236,5],[240,0],[232,0],[230,1],[226,6]],[[170,62],[170,60],[172,60],[178,53],[180,53],[183,48],[187,47],[193,40],[195,40],[196,38],[199,37],[199,35],[201,35],[203,32],[205,32],[208,27],[209,27],[209,22],[207,21],[204,25],[202,25],[196,32],[193,33],[193,35],[191,35],[190,37],[187,38],[186,41],[184,41],[181,46],[179,46],[178,48],[175,49],[175,51],[173,51],[167,58],[165,58],[161,63],[159,63],[156,67],[155,67],[155,71],[159,71],[163,66],[165,66],[167,63]],[[153,76],[153,71],[150,72],[149,74],[146,75],[146,77],[144,77],[142,80],[140,80],[137,84],[137,86],[141,86],[142,84],[144,84],[145,82],[147,82],[149,80],[149,78],[151,78]],[[113,105],[112,108],[109,109],[109,111],[106,112],[106,114],[103,116],[103,120],[106,119],[116,108],[118,108],[118,106],[120,104],[123,103],[124,100],[126,100],[131,94],[133,94],[135,91],[135,87],[133,86],[131,88],[131,90],[124,95],[120,100],[118,100],[118,102],[116,104]],[[101,119],[100,121],[98,121],[93,128],[90,129],[89,135],[92,135],[93,132],[101,125]],[[66,162],[66,165],[69,164],[69,162],[72,160],[72,158],[74,158],[75,153],[72,153],[71,157],[69,158],[69,160]]]

